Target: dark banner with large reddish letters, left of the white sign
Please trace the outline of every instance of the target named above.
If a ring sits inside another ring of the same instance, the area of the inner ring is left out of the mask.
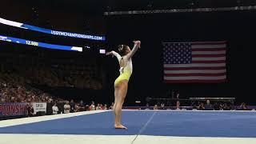
[[[0,117],[11,117],[26,114],[26,103],[0,103]]]

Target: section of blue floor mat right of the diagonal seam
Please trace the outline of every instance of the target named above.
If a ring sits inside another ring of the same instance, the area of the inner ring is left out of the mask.
[[[145,135],[256,138],[256,113],[161,112],[154,115]]]

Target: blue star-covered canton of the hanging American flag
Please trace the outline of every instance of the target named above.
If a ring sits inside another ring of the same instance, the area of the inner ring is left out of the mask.
[[[189,64],[192,62],[192,48],[189,42],[164,43],[163,50],[165,64]]]

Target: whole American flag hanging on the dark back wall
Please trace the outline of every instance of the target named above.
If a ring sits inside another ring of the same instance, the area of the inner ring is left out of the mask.
[[[164,82],[226,82],[226,42],[163,42]]]

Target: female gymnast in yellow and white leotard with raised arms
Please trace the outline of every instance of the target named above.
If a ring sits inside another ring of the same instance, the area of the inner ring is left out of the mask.
[[[119,45],[118,51],[121,55],[116,53],[115,51],[107,52],[106,55],[112,54],[116,58],[118,58],[118,62],[120,65],[120,75],[114,81],[114,128],[115,129],[127,129],[126,126],[122,126],[120,119],[121,119],[121,111],[122,111],[122,104],[126,98],[126,93],[128,89],[128,82],[130,75],[133,71],[133,64],[132,64],[132,56],[135,52],[140,48],[141,42],[134,41],[134,48],[130,50],[129,46],[126,45]]]

